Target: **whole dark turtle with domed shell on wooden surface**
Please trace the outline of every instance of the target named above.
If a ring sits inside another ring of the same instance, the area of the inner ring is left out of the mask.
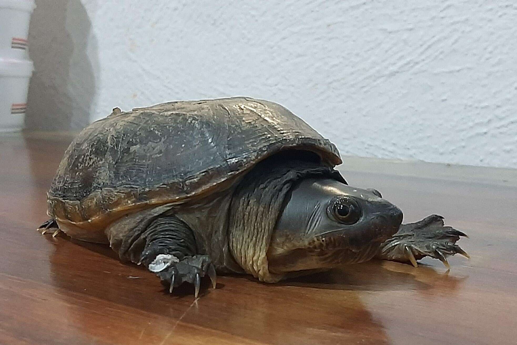
[[[262,282],[374,258],[412,263],[468,254],[465,233],[349,186],[337,147],[280,104],[232,97],[174,101],[87,126],[47,193],[38,230],[109,244],[166,290],[249,274]]]

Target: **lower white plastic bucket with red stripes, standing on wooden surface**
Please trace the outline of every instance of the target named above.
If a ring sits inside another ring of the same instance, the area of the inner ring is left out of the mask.
[[[32,72],[30,60],[0,58],[0,132],[23,129]]]

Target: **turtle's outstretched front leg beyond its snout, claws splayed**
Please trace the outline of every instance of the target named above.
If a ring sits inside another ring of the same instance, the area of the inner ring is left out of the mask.
[[[444,226],[444,218],[431,215],[415,223],[402,224],[393,237],[387,239],[376,255],[377,259],[412,263],[423,257],[438,259],[449,269],[447,257],[468,254],[456,244],[463,232]]]

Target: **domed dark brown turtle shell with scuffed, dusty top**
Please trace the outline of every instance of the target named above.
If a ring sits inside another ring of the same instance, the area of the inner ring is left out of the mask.
[[[277,103],[236,97],[116,111],[70,144],[48,192],[48,214],[81,228],[135,209],[182,203],[231,186],[285,149],[341,163],[336,146]]]

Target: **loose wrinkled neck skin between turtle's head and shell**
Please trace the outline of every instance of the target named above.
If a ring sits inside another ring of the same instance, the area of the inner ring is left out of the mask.
[[[306,177],[343,177],[320,162],[272,156],[260,162],[239,183],[229,210],[228,242],[235,261],[248,274],[264,282],[276,282],[267,250],[284,200],[293,185]]]

